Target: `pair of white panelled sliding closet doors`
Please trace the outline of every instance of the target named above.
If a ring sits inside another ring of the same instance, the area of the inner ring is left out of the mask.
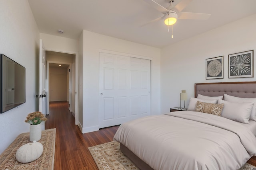
[[[150,60],[100,53],[99,127],[150,115]]]

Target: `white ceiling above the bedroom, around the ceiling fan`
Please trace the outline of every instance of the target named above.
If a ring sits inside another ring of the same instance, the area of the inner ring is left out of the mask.
[[[165,8],[166,0],[155,0]],[[180,0],[174,0],[174,4]],[[211,14],[208,20],[178,20],[173,39],[163,14],[143,0],[28,0],[40,33],[78,39],[88,30],[127,41],[165,47],[226,23],[256,14],[256,0],[193,0],[182,12]],[[59,34],[58,29],[64,30]],[[171,30],[171,29],[170,29]]]

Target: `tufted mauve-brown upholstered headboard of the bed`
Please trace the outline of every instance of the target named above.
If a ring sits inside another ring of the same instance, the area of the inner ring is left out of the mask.
[[[224,94],[240,98],[256,98],[256,82],[218,82],[196,83],[195,98],[204,96],[223,96]]]

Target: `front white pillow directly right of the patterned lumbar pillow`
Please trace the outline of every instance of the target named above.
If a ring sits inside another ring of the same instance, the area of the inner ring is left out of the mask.
[[[221,116],[233,121],[239,121],[242,123],[249,123],[252,107],[251,103],[240,103],[240,102],[228,102],[225,100],[218,99],[218,104],[224,104]]]

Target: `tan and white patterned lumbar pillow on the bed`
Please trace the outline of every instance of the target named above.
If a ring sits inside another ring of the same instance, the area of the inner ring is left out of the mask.
[[[220,116],[223,106],[224,104],[211,104],[197,101],[196,111]]]

